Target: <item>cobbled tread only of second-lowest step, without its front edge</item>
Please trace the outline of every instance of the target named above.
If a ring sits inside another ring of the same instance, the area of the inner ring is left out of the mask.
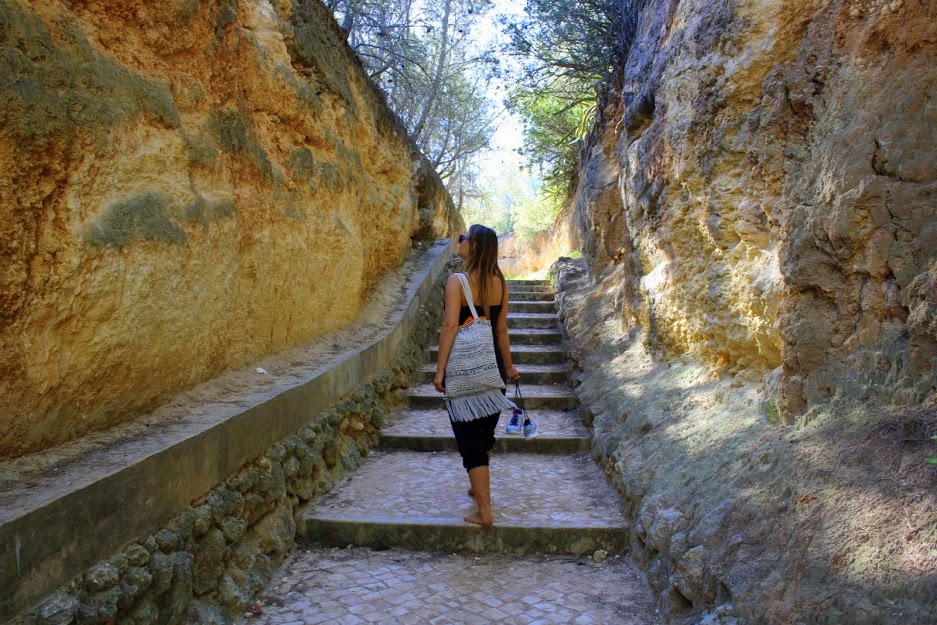
[[[510,393],[508,394],[510,395]],[[540,427],[540,436],[588,437],[589,431],[582,425],[575,410],[537,410],[531,415]],[[508,415],[502,415],[495,436],[498,438],[523,438],[519,434],[506,434],[504,424]],[[452,436],[452,426],[445,410],[403,410],[393,414],[384,427],[383,434],[421,434],[424,436]]]

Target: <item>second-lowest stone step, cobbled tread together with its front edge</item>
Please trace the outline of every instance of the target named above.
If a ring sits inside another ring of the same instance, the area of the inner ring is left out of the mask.
[[[498,453],[523,452],[534,454],[574,454],[591,447],[589,430],[582,425],[575,410],[531,410],[540,435],[525,439],[522,434],[507,434],[504,426],[509,414],[501,415],[495,430]],[[381,428],[383,449],[410,451],[456,451],[452,426],[445,410],[400,410],[391,415]]]

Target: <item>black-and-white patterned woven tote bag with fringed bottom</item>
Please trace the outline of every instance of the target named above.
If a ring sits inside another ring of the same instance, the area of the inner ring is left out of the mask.
[[[474,421],[515,406],[501,392],[505,385],[495,359],[491,321],[479,319],[468,278],[456,275],[472,321],[459,328],[446,363],[446,410],[453,421]]]

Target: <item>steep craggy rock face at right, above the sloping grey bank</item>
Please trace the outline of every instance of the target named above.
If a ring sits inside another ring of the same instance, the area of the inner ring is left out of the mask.
[[[583,252],[648,348],[794,422],[937,392],[937,4],[651,0],[583,152]]]

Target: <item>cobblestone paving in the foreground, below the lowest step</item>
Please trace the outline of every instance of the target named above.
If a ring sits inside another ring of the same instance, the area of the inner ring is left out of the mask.
[[[260,625],[651,625],[660,623],[626,557],[299,550],[249,623]]]

